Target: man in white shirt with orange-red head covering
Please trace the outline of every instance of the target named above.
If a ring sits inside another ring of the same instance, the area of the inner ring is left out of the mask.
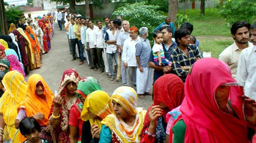
[[[137,61],[136,61],[136,48],[135,45],[138,42],[138,28],[131,27],[130,28],[130,38],[127,38],[124,41],[123,53],[122,53],[122,61],[124,61],[124,66],[128,67],[127,74],[127,85],[133,87],[132,81],[134,76],[136,75],[137,70]]]

